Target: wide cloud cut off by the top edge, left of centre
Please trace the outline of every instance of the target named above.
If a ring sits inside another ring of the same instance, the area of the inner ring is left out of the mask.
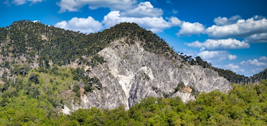
[[[60,0],[56,4],[60,7],[59,12],[79,11],[80,8],[88,5],[90,9],[107,7],[111,10],[127,10],[133,8],[136,0]]]

